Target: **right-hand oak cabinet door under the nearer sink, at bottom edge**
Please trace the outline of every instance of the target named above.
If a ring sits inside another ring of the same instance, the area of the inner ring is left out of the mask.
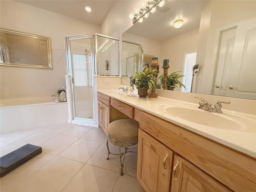
[[[174,155],[170,192],[232,192],[188,160]]]

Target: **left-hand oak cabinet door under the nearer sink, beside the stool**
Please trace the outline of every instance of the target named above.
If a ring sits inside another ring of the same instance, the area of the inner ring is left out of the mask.
[[[146,192],[168,192],[173,152],[139,129],[137,179]]]

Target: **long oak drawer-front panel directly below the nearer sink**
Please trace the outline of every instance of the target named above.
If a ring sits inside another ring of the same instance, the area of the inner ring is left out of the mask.
[[[141,111],[140,128],[236,192],[254,192],[256,159]]]

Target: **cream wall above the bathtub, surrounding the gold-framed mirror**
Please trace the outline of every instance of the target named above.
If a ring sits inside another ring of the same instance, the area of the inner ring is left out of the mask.
[[[50,97],[66,87],[64,37],[100,33],[100,26],[14,1],[0,2],[0,27],[51,38],[53,70],[0,66],[1,99]]]

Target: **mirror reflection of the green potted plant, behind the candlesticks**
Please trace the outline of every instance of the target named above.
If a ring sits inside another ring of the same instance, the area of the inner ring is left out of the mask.
[[[181,71],[176,71],[176,72],[173,72],[170,75],[166,76],[166,79],[167,79],[166,84],[167,84],[168,90],[174,90],[175,87],[178,88],[177,85],[179,85],[180,88],[183,86],[186,89],[186,86],[178,80],[178,78],[184,77],[184,75],[180,75],[180,74],[178,74],[178,72],[181,72]],[[164,75],[161,75],[158,79],[160,79],[160,84],[163,86]]]

